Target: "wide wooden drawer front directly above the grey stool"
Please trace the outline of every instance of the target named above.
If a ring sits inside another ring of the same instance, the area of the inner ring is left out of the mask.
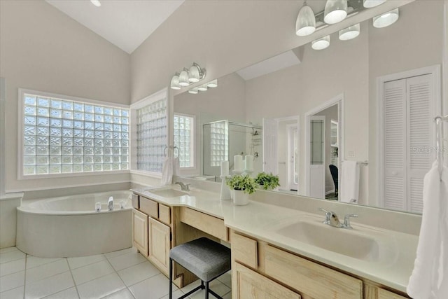
[[[195,211],[194,209],[181,207],[181,222],[207,232],[209,235],[228,241],[228,230],[225,228],[223,219]]]

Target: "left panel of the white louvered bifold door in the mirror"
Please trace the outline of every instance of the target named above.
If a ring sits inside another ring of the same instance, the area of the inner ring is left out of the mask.
[[[406,80],[384,83],[384,207],[407,209]]]

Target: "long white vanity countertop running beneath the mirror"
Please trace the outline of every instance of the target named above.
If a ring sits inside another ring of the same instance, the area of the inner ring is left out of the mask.
[[[160,188],[160,187],[159,187]],[[158,189],[159,189],[158,188]],[[277,207],[251,200],[246,206],[235,206],[230,200],[220,200],[218,193],[193,189],[189,195],[178,197],[161,197],[151,193],[151,188],[133,189],[135,193],[169,206],[190,207],[197,211],[224,219],[229,228],[262,239],[269,244],[300,254],[312,260],[336,267],[359,277],[370,279],[378,284],[388,286],[406,293],[406,286],[416,256],[418,236],[394,230],[385,230],[352,221],[353,231],[363,231],[380,239],[386,248],[381,251],[379,261],[360,260],[341,253],[328,251],[318,246],[299,242],[293,237],[281,235],[279,228],[302,218],[309,221],[323,221],[320,214],[311,214],[297,209]],[[256,194],[256,193],[255,193]],[[323,225],[323,224],[322,224]],[[340,230],[340,228],[328,229]]]

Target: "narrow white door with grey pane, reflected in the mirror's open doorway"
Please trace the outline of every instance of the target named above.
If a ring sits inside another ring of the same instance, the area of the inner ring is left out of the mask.
[[[325,198],[325,116],[309,116],[309,196]]]

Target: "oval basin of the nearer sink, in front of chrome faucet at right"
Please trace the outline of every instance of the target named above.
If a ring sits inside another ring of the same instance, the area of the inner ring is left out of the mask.
[[[280,228],[279,235],[359,260],[379,259],[378,242],[362,232],[333,228],[317,221],[298,221]]]

